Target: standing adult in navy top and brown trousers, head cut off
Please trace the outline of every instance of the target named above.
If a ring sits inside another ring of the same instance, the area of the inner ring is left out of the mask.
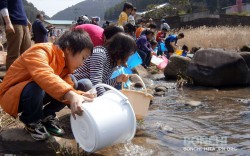
[[[5,21],[7,38],[6,69],[31,46],[30,28],[22,0],[1,0],[1,14]]]

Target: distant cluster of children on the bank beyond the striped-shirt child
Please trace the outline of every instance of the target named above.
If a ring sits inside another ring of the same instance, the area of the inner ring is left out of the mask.
[[[118,26],[124,26],[125,31],[129,31],[129,34],[134,37],[137,44],[137,52],[143,61],[142,65],[148,68],[153,54],[158,56],[166,55],[167,58],[170,58],[170,56],[179,49],[177,41],[184,38],[184,34],[169,34],[167,36],[170,26],[164,19],[161,20],[161,30],[159,32],[157,32],[156,24],[151,18],[148,20],[148,23],[146,23],[144,19],[140,19],[138,25],[135,25],[135,11],[136,8],[133,7],[131,3],[126,2],[117,24]],[[128,20],[128,17],[130,17],[130,19],[133,17],[133,22],[130,22],[131,20]],[[187,55],[187,46],[184,45],[180,50],[183,51],[181,54],[182,56]]]

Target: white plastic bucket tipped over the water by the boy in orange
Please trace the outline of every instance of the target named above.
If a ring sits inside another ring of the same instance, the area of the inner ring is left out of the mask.
[[[134,110],[127,97],[109,85],[95,87],[100,86],[110,90],[93,102],[83,103],[82,116],[76,116],[76,120],[71,116],[74,137],[87,152],[130,141],[136,131]]]

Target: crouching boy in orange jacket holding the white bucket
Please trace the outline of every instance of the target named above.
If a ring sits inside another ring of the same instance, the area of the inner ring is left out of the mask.
[[[69,76],[88,58],[93,49],[82,30],[66,31],[54,44],[40,43],[25,51],[9,68],[0,84],[0,104],[18,117],[35,140],[50,134],[61,136],[56,112],[70,105],[73,117],[81,115],[81,104],[93,95],[76,91]]]

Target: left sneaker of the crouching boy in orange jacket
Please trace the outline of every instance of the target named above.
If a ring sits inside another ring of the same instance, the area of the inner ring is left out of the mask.
[[[50,137],[50,134],[42,125],[41,121],[38,121],[37,123],[26,124],[25,129],[30,133],[33,139],[38,141],[46,140]]]

